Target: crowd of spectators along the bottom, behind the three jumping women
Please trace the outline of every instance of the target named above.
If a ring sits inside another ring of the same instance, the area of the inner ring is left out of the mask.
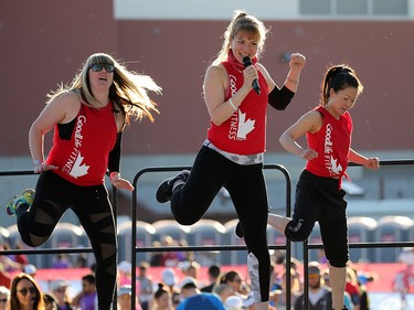
[[[137,266],[136,281],[131,278],[131,264],[123,260],[117,272],[117,309],[135,310],[256,310],[252,284],[238,269],[225,270],[216,264],[206,267],[206,277],[201,277],[197,261],[184,261],[176,267],[151,267],[141,261]],[[279,265],[279,266],[278,266]],[[0,286],[0,310],[50,309],[50,310],[99,310],[96,279],[91,272],[81,279],[78,291],[70,293],[75,282],[63,278],[47,284],[36,279],[33,265],[10,278],[9,284]],[[278,267],[278,268],[276,268]],[[290,287],[286,286],[286,260],[272,257],[269,309],[286,308],[289,290],[290,306],[294,310],[330,310],[332,293],[327,264],[311,261],[308,266],[308,308],[305,308],[304,266],[295,258],[290,260]],[[156,278],[152,268],[162,268]],[[32,274],[25,271],[32,270]],[[369,310],[369,296],[365,290],[367,275],[358,272],[354,266],[347,267],[347,286],[343,304],[350,310]],[[131,302],[135,287],[136,302]],[[208,306],[206,306],[208,304]],[[208,307],[208,308],[202,308]]]

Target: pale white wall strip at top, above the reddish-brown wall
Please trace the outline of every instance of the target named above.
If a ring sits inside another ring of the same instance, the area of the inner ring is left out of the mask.
[[[330,14],[301,14],[300,3],[330,8]],[[262,20],[414,20],[414,0],[399,2],[364,2],[367,13],[340,14],[337,1],[340,0],[114,0],[114,14],[117,20],[229,20],[234,10],[243,9]],[[355,0],[354,0],[355,1]],[[373,13],[375,6],[386,11],[388,6],[404,7],[406,14]],[[352,6],[352,3],[350,3]],[[363,6],[362,6],[363,7]]]

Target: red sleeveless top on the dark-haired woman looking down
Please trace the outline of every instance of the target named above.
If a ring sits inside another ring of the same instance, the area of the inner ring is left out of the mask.
[[[308,132],[307,139],[309,148],[316,150],[319,156],[306,163],[306,170],[319,177],[347,177],[352,135],[351,115],[346,113],[336,119],[321,106],[315,110],[323,115],[323,125],[318,132]]]

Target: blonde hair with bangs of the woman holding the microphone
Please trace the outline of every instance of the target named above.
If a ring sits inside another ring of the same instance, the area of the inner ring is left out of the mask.
[[[223,34],[224,42],[221,51],[217,54],[217,57],[213,62],[213,65],[216,65],[226,60],[229,50],[231,47],[230,41],[234,39],[240,32],[246,32],[251,38],[257,39],[257,57],[259,57],[262,52],[264,51],[268,31],[269,30],[266,29],[264,23],[255,17],[247,14],[243,10],[235,10],[233,19]]]

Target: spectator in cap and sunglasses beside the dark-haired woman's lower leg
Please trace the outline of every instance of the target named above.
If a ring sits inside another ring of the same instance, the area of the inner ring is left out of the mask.
[[[323,285],[319,263],[310,261],[308,265],[309,308],[307,310],[331,310],[332,292]],[[305,310],[305,293],[295,302],[295,310]]]

